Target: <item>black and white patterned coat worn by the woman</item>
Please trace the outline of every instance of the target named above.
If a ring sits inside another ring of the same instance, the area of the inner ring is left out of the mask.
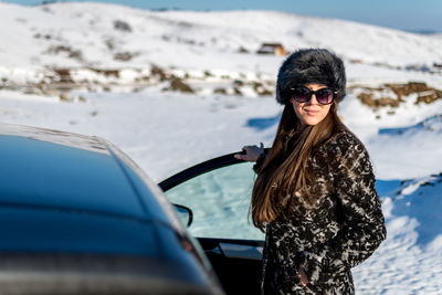
[[[316,203],[296,206],[290,218],[267,224],[262,293],[354,294],[350,268],[386,239],[369,156],[351,133],[340,131],[307,165]],[[297,275],[301,264],[309,280],[305,287]]]

